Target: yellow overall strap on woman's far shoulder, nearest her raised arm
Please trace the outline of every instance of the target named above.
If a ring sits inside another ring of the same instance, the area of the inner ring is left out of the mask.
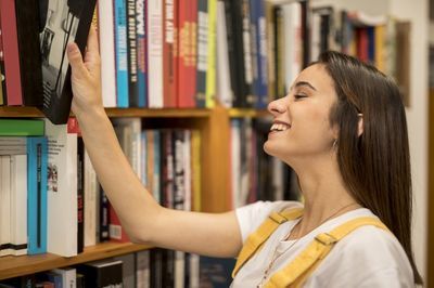
[[[303,214],[303,208],[295,208],[288,211],[272,212],[268,218],[259,225],[259,227],[248,235],[241,252],[238,256],[235,267],[232,271],[232,277],[235,277],[237,273],[244,265],[244,263],[251,259],[256,251],[263,246],[263,244],[271,236],[271,234],[279,227],[280,224],[299,218]]]

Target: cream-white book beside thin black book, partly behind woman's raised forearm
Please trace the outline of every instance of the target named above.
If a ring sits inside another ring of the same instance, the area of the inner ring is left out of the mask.
[[[85,150],[85,247],[97,244],[99,183],[89,154]]]

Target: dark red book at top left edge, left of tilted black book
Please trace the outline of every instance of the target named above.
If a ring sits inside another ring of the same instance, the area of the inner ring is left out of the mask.
[[[0,21],[7,79],[7,102],[9,106],[23,105],[15,1],[0,0]]]

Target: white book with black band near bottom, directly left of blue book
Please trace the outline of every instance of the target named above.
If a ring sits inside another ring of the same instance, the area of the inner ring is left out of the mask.
[[[27,254],[27,155],[11,156],[11,239],[15,256]]]

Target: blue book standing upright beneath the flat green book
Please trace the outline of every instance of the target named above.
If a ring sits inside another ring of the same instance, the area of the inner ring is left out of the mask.
[[[47,138],[27,138],[28,254],[47,252]]]

